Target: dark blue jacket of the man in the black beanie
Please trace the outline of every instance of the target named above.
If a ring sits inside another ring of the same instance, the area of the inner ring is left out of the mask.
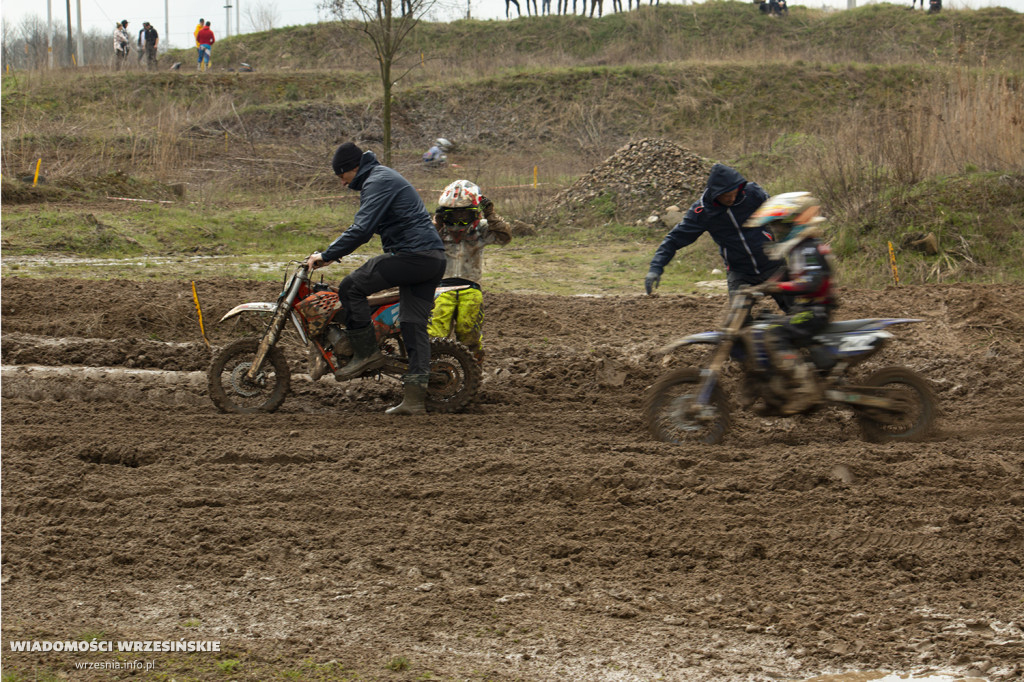
[[[358,190],[359,210],[352,225],[321,253],[325,263],[347,256],[375,233],[381,236],[386,253],[444,250],[420,195],[397,171],[382,166],[373,152],[364,152],[348,187]]]

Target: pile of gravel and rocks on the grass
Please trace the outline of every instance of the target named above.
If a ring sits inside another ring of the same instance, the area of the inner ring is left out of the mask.
[[[669,224],[666,207],[688,208],[696,201],[713,163],[665,139],[630,142],[556,195],[545,222],[566,226],[603,218],[660,227]]]

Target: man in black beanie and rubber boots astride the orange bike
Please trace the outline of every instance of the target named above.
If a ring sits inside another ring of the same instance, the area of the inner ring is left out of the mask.
[[[400,404],[389,415],[422,415],[430,378],[430,337],[427,324],[434,305],[434,289],[444,276],[444,243],[427,208],[409,181],[381,165],[373,152],[345,142],[334,154],[334,173],[341,183],[359,193],[359,208],[351,226],[331,246],[306,259],[313,270],[339,260],[380,235],[384,254],[371,258],[341,281],[338,298],[344,308],[345,330],[352,359],[335,372],[344,381],[384,364],[370,318],[367,296],[398,287],[401,337],[409,349],[409,373]]]

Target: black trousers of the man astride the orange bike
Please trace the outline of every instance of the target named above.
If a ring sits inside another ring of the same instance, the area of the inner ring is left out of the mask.
[[[444,252],[386,253],[352,270],[338,286],[345,309],[345,327],[362,329],[371,324],[367,296],[398,287],[398,319],[409,350],[409,374],[430,373],[430,337],[427,323],[434,307],[434,290],[444,276]]]

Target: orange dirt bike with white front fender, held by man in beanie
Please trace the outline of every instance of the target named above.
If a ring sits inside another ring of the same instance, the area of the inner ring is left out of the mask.
[[[312,283],[304,262],[292,262],[284,290],[276,302],[237,305],[220,322],[246,313],[270,313],[259,336],[234,341],[218,352],[210,365],[210,398],[221,412],[252,414],[273,412],[285,401],[292,372],[279,342],[286,328],[298,334],[306,348],[313,381],[345,365],[352,356],[348,337],[338,314],[341,304],[331,287]],[[437,293],[459,289],[449,287]],[[362,376],[386,376],[400,380],[409,370],[409,354],[398,328],[398,293],[382,292],[369,298],[377,342],[384,353],[382,367]],[[430,412],[451,413],[466,408],[480,388],[482,372],[472,353],[454,339],[430,339],[430,381],[426,406]]]

